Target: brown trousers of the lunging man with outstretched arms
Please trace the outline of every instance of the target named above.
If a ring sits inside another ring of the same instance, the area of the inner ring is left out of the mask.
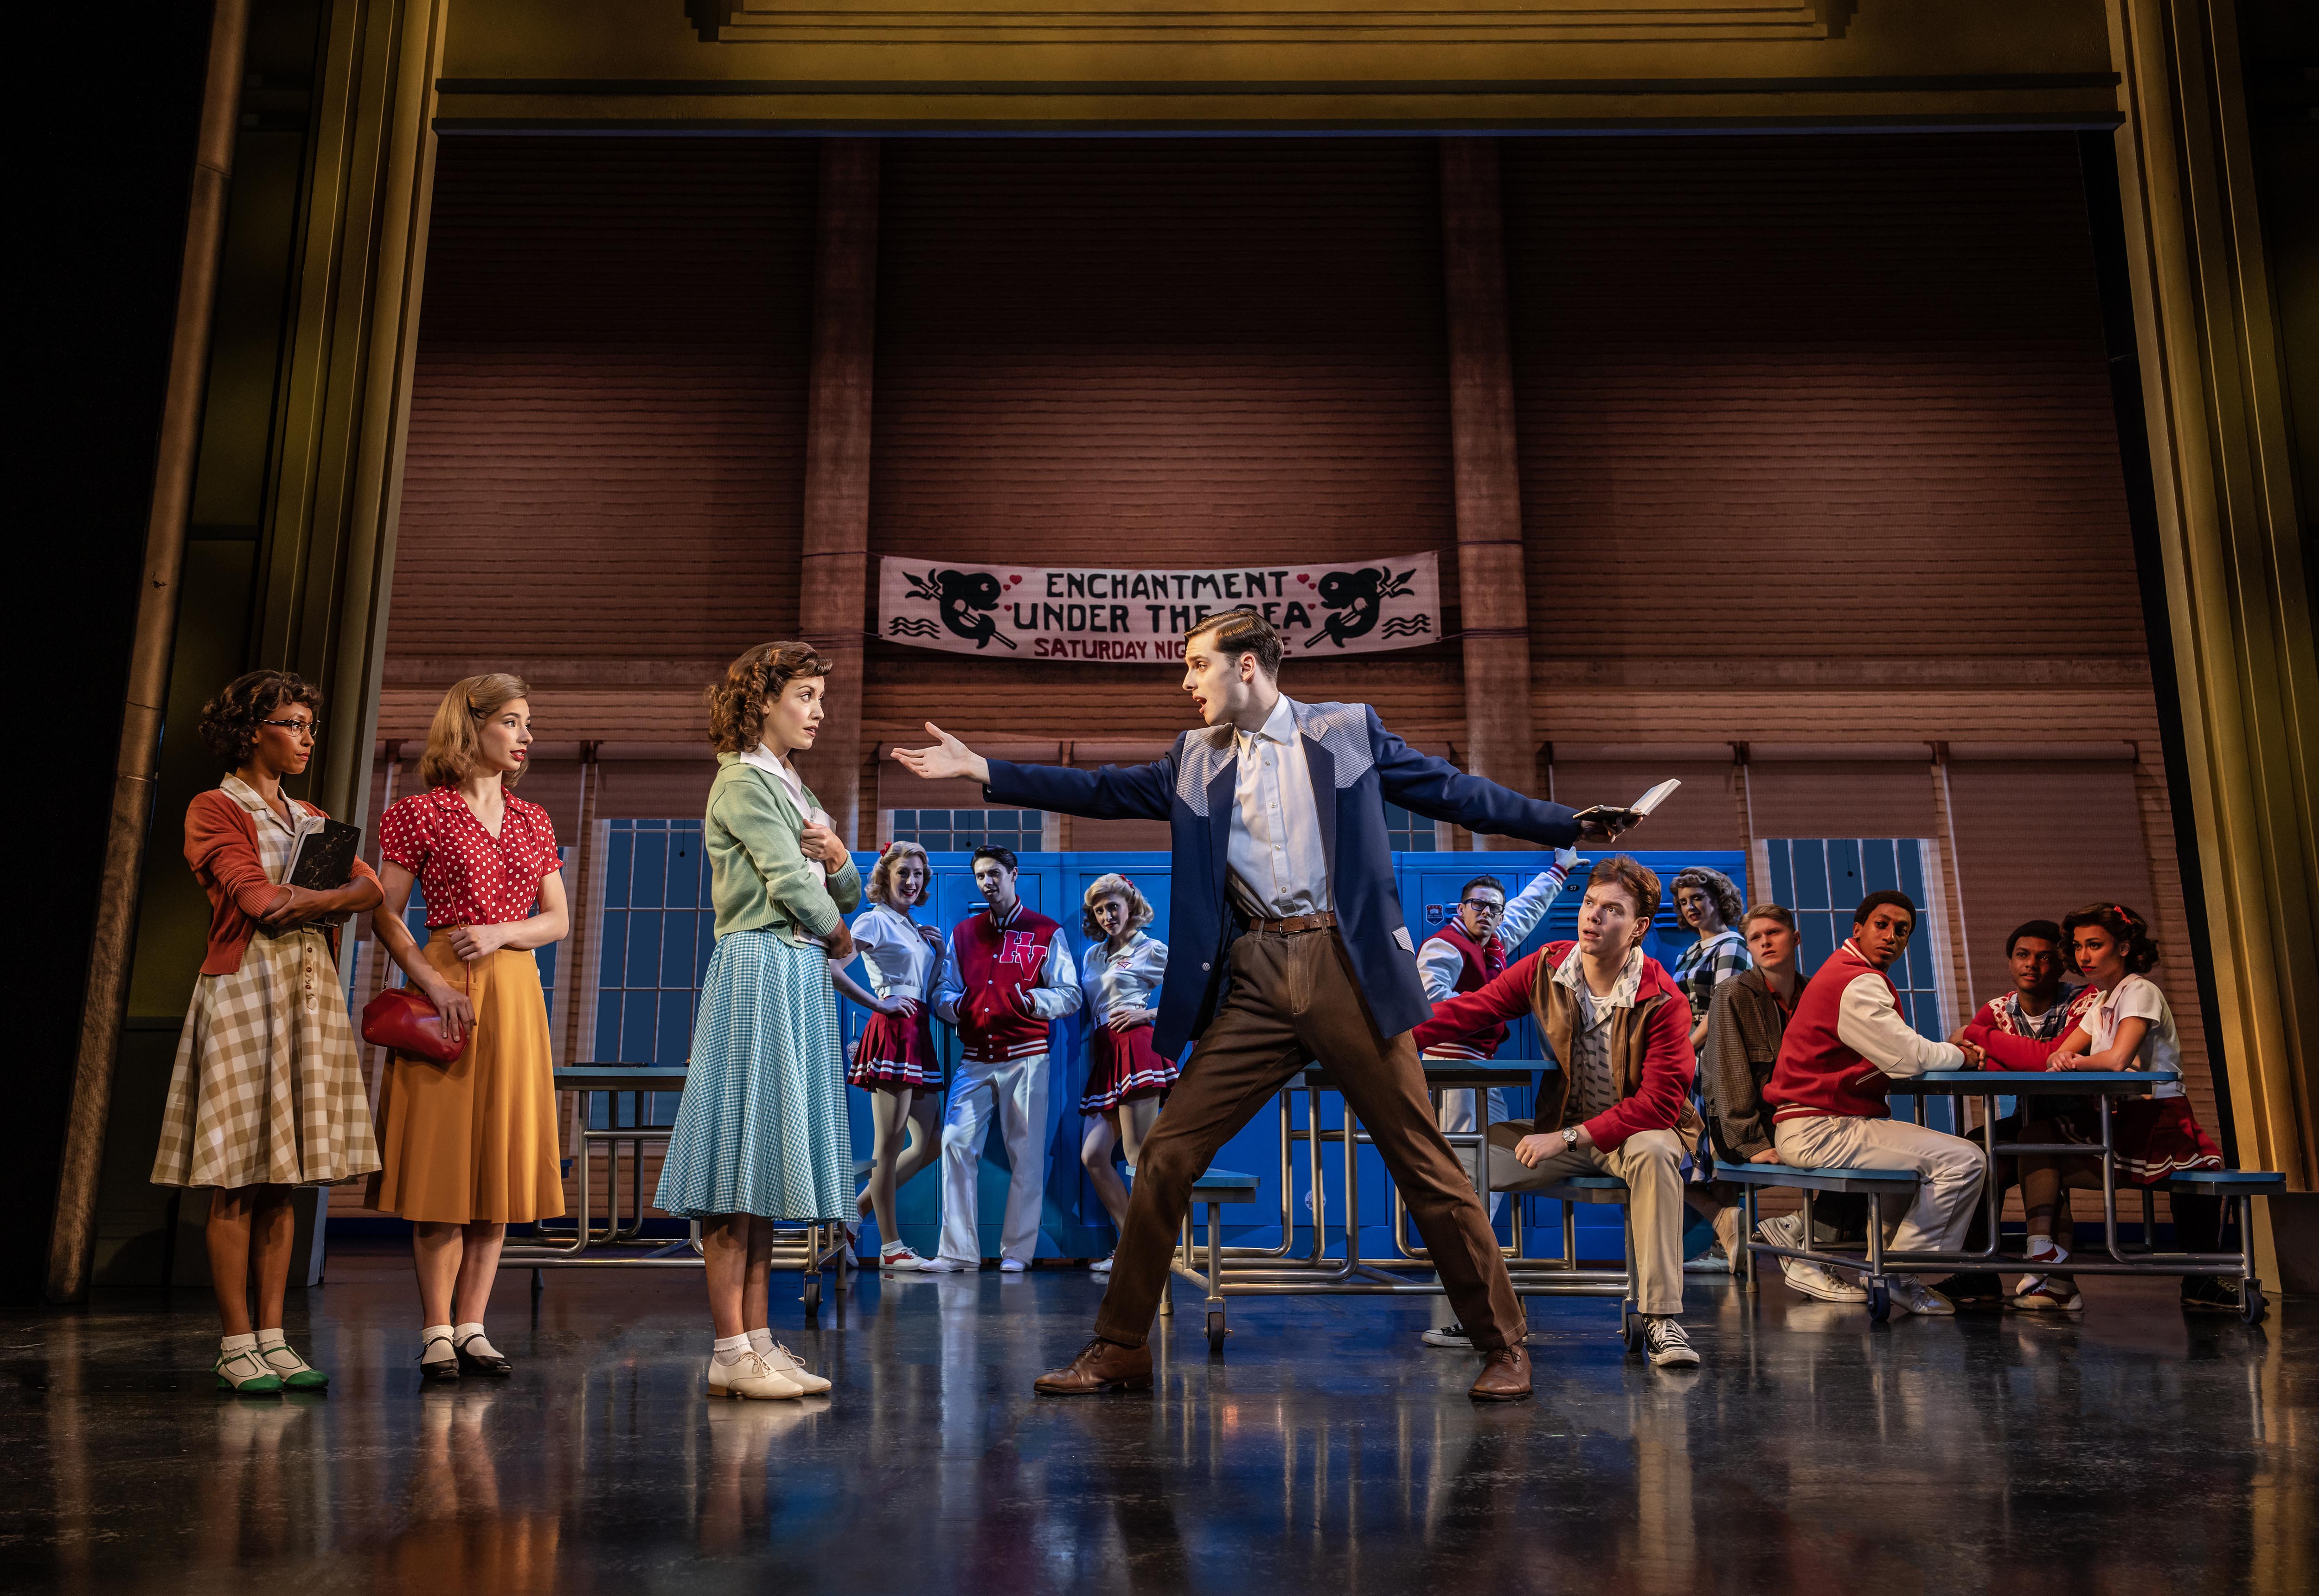
[[[1519,1345],[1526,1334],[1521,1304],[1466,1165],[1433,1120],[1417,1046],[1405,1032],[1377,1035],[1333,930],[1250,930],[1231,944],[1231,993],[1192,1049],[1136,1160],[1095,1334],[1143,1345],[1169,1283],[1192,1181],[1206,1174],[1215,1148],[1313,1060],[1336,1076],[1345,1104],[1375,1139],[1473,1343]]]

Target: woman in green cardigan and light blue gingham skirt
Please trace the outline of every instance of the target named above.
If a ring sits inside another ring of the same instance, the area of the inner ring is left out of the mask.
[[[791,763],[821,731],[828,673],[805,643],[761,643],[710,689],[719,770],[703,842],[717,951],[656,1202],[700,1220],[712,1396],[830,1390],[768,1325],[775,1220],[853,1218],[830,960],[853,958],[842,912],[863,888]]]

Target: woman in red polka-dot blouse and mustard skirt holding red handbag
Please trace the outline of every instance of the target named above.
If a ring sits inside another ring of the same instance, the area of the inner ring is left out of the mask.
[[[557,828],[515,796],[531,749],[531,689],[506,673],[452,684],[427,728],[424,791],[378,819],[378,942],[466,1042],[436,1065],[387,1055],[383,1169],[371,1206],[413,1223],[420,1373],[506,1376],[482,1334],[508,1225],[564,1213],[554,1062],[533,949],[570,930]],[[417,886],[427,946],[404,926]]]

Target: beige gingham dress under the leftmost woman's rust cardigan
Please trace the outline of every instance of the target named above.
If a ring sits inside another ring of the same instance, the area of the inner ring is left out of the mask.
[[[257,824],[267,879],[281,882],[299,833],[239,777],[225,796]],[[250,935],[241,970],[204,974],[176,1042],[155,1185],[334,1185],[378,1169],[362,1055],[339,965],[318,926]]]

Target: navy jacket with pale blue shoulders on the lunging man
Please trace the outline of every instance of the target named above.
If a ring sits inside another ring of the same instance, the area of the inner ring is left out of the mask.
[[[1292,701],[1294,703],[1294,701]],[[1394,888],[1391,833],[1384,805],[1452,821],[1484,835],[1568,847],[1579,828],[1572,810],[1466,775],[1445,759],[1396,738],[1366,703],[1294,703],[1313,807],[1320,814],[1329,891],[1352,974],[1371,1018],[1387,1037],[1433,1014],[1417,977],[1417,949]],[[1153,1051],[1173,1058],[1208,1028],[1224,991],[1224,949],[1238,933],[1227,898],[1227,856],[1236,814],[1238,754],[1231,726],[1201,726],[1176,738],[1148,766],[1018,766],[990,761],[990,803],[1081,814],[1085,819],[1166,821],[1173,837],[1169,893],[1171,949],[1160,988]]]

